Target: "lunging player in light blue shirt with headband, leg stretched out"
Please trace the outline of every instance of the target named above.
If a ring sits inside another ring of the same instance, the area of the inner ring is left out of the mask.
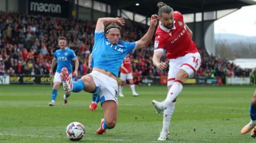
[[[157,15],[152,15],[147,33],[138,41],[126,43],[120,41],[123,18],[99,18],[94,32],[92,50],[92,72],[84,75],[79,81],[71,82],[66,68],[61,70],[63,88],[67,92],[82,90],[100,94],[100,103],[104,118],[101,120],[97,134],[112,129],[117,120],[117,76],[124,57],[135,49],[147,47],[157,24]]]

